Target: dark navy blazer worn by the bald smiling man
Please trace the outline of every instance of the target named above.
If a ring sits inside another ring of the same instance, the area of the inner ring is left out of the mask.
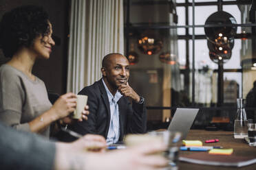
[[[71,129],[79,134],[100,134],[107,138],[110,124],[109,99],[105,86],[99,80],[91,86],[83,88],[78,95],[87,95],[89,115],[87,121],[77,122]],[[128,97],[121,97],[118,101],[119,108],[119,141],[125,134],[140,134],[147,131],[147,112],[145,104],[129,101]]]

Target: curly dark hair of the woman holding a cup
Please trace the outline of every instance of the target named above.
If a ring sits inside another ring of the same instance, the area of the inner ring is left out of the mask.
[[[0,23],[0,48],[11,58],[21,47],[30,47],[38,36],[50,34],[49,16],[43,8],[25,5],[6,12]]]

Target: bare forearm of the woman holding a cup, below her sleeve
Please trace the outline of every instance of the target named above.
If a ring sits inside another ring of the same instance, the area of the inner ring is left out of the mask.
[[[30,131],[31,132],[41,132],[42,130],[45,130],[45,127],[49,126],[52,122],[58,120],[58,117],[56,114],[53,114],[54,110],[52,108],[50,110],[47,110],[43,114],[41,114],[39,117],[36,117],[32,121],[30,121],[28,124],[30,125]]]

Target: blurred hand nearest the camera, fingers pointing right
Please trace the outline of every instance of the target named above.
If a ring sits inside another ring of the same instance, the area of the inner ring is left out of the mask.
[[[160,152],[166,150],[162,143],[145,143],[138,147],[107,151],[105,154],[88,154],[87,169],[165,169],[169,161]],[[113,162],[113,160],[115,160]],[[86,169],[85,168],[85,169]],[[168,168],[167,168],[168,169]]]

